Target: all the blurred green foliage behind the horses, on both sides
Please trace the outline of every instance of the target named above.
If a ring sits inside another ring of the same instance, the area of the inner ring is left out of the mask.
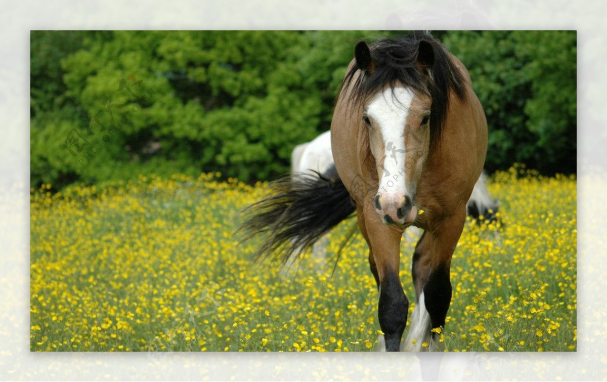
[[[275,179],[294,146],[330,128],[359,39],[401,33],[33,31],[32,187],[177,172]],[[433,35],[483,103],[487,171],[575,172],[575,31]]]

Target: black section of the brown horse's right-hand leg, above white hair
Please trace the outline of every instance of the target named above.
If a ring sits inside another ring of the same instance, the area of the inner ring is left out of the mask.
[[[433,328],[445,325],[445,318],[451,303],[451,292],[449,267],[441,266],[430,271],[428,281],[424,285],[424,301]]]

